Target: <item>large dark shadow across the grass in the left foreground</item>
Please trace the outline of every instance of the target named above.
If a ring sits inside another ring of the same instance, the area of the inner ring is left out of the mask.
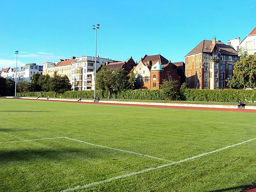
[[[84,160],[103,159],[108,152],[99,148],[61,148],[61,149],[0,149],[0,163],[30,161],[41,159],[62,160],[79,156]]]

